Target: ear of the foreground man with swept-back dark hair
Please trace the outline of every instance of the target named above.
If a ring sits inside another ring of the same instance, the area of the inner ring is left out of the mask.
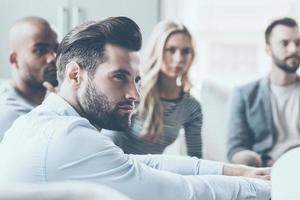
[[[65,77],[71,85],[78,86],[80,84],[80,76],[82,70],[78,63],[72,61],[66,65]]]

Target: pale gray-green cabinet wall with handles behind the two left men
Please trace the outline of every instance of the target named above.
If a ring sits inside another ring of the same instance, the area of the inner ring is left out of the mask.
[[[128,16],[137,22],[146,40],[160,19],[160,0],[0,0],[0,78],[10,77],[10,27],[16,20],[33,15],[48,20],[59,38],[86,20]]]

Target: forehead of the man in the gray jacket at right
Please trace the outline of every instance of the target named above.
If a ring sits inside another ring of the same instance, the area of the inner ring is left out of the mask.
[[[273,28],[270,41],[274,40],[298,40],[300,38],[298,27],[277,25]]]

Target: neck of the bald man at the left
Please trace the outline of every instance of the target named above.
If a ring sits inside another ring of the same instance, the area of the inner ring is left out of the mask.
[[[27,101],[39,105],[43,102],[46,95],[46,88],[32,88],[26,82],[20,79],[13,79],[13,86]]]

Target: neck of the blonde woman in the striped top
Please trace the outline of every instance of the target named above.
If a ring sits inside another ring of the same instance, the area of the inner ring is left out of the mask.
[[[159,78],[159,95],[164,99],[176,99],[180,96],[182,87],[176,85],[176,78],[163,74]]]

